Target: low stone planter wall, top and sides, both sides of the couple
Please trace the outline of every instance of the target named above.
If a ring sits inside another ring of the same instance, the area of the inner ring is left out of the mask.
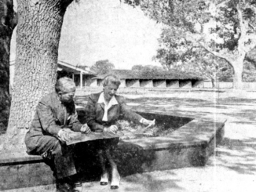
[[[166,121],[169,123],[170,119]],[[120,141],[115,151],[119,172],[126,176],[135,172],[203,166],[221,142],[224,127],[225,120],[195,118],[167,136]],[[54,178],[40,156],[10,152],[0,158],[0,183],[0,190],[8,190],[54,183]]]

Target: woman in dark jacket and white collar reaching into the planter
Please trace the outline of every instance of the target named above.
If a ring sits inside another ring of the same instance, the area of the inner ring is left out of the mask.
[[[108,75],[103,81],[103,92],[90,95],[86,105],[86,122],[92,131],[112,132],[115,134],[118,130],[115,123],[121,116],[144,125],[155,125],[155,120],[149,121],[142,118],[141,115],[136,114],[126,106],[123,96],[115,95],[120,83],[119,78],[115,77],[115,75]],[[118,189],[120,176],[111,152],[119,143],[119,138],[99,139],[96,140],[96,143],[102,168],[100,183],[101,185],[108,184],[109,173],[105,167],[108,161],[112,176],[111,189]]]

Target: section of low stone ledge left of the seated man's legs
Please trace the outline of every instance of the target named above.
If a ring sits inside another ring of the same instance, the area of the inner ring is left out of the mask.
[[[40,156],[5,153],[0,158],[0,190],[54,183],[53,172]]]

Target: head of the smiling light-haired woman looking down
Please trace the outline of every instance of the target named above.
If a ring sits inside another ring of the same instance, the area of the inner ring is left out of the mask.
[[[111,100],[112,96],[115,96],[117,89],[119,89],[119,85],[121,84],[119,78],[115,75],[108,75],[103,80],[103,90],[104,90],[104,99],[106,101]]]

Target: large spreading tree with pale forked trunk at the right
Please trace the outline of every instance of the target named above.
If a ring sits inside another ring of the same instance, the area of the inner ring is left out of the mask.
[[[233,68],[233,87],[241,89],[244,59],[256,45],[253,0],[129,1],[187,41],[225,60]]]

